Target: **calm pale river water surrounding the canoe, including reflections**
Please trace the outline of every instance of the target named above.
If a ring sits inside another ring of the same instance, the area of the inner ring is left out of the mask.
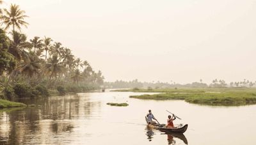
[[[36,107],[0,111],[0,144],[256,144],[256,106],[209,107],[183,100],[139,100],[142,93],[79,93],[23,100]],[[107,102],[127,102],[113,107]],[[148,130],[148,109],[161,123],[169,111],[188,123],[184,135]]]

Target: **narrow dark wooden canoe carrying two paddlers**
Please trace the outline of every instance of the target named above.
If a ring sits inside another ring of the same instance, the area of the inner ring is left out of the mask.
[[[145,117],[146,121],[147,121],[147,116]],[[150,124],[148,123],[148,127],[150,128],[154,128],[154,129],[157,129],[157,130],[160,130],[162,132],[173,132],[173,133],[184,133],[186,132],[187,128],[188,128],[188,125],[182,125],[180,127],[175,127],[175,128],[167,128],[165,127],[164,124],[162,125],[159,125],[159,124]]]

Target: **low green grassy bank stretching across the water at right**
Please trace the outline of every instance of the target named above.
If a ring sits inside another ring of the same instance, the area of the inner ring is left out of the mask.
[[[201,92],[172,92],[131,96],[136,99],[185,100],[210,106],[243,106],[256,104],[255,89],[202,89]]]

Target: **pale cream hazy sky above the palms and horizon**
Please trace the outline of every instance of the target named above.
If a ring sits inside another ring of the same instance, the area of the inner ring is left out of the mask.
[[[106,81],[256,80],[256,0],[5,1]]]

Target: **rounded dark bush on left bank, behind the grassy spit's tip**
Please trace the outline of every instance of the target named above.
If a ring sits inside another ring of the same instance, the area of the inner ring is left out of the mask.
[[[15,94],[18,97],[35,97],[35,91],[33,91],[33,88],[29,86],[26,83],[17,83],[13,87]]]

